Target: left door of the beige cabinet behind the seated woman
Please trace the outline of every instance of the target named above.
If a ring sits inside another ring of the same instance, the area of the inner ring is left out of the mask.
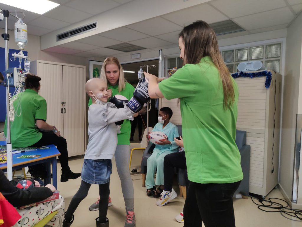
[[[55,125],[64,137],[63,131],[63,66],[38,63],[37,76],[41,77],[39,94],[47,102],[47,120]]]

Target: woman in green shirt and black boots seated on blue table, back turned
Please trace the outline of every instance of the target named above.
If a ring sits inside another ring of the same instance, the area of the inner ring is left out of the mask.
[[[61,182],[76,179],[81,173],[72,173],[68,166],[68,152],[66,140],[61,137],[60,131],[55,126],[46,123],[47,104],[46,100],[38,94],[41,78],[34,74],[27,74],[25,79],[25,91],[18,94],[14,101],[14,109],[21,114],[15,113],[14,121],[11,122],[11,143],[13,147],[40,147],[54,144],[59,152],[58,156],[62,175]],[[6,132],[6,120],[4,127]],[[33,177],[46,178],[47,172],[42,164],[29,167]]]

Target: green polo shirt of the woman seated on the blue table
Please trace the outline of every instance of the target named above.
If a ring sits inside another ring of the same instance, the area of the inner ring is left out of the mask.
[[[17,113],[15,113],[14,121],[11,121],[12,146],[27,147],[37,143],[41,139],[42,133],[35,124],[36,120],[46,121],[46,100],[35,90],[26,89],[18,94],[18,98],[14,101],[14,108]],[[6,133],[5,120],[4,134],[6,135]]]

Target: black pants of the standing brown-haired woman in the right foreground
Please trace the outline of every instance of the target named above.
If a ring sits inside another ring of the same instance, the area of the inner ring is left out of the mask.
[[[190,182],[184,206],[184,227],[235,227],[233,195],[240,181],[226,184]]]

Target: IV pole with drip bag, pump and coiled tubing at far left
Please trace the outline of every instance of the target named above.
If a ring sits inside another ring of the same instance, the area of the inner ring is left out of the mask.
[[[0,85],[4,85],[6,87],[6,128],[7,128],[7,134],[6,134],[6,150],[7,150],[7,178],[9,180],[12,180],[12,153],[11,153],[11,123],[14,118],[14,100],[18,99],[18,96],[16,94],[20,93],[23,90],[24,84],[25,84],[25,75],[29,72],[29,58],[27,56],[24,56],[22,50],[24,50],[25,45],[27,44],[27,26],[23,23],[22,19],[24,18],[23,12],[17,12],[15,11],[15,15],[12,14],[13,12],[9,12],[8,10],[2,10],[0,8],[0,21],[4,20],[4,33],[1,35],[4,39],[5,43],[5,73],[6,78],[4,82],[1,82]],[[18,17],[17,13],[22,13],[23,17]],[[15,23],[15,34],[14,38],[17,42],[17,45],[19,46],[19,50],[21,50],[19,53],[12,54],[11,61],[15,61],[18,58],[19,66],[18,68],[9,68],[8,62],[8,41],[9,41],[9,34],[8,34],[8,17],[9,15],[17,18],[17,22]],[[21,67],[21,63],[24,59],[24,70]],[[9,92],[9,87],[14,86],[16,87],[13,96]],[[20,112],[21,114],[21,112]],[[12,117],[12,118],[11,118]]]

